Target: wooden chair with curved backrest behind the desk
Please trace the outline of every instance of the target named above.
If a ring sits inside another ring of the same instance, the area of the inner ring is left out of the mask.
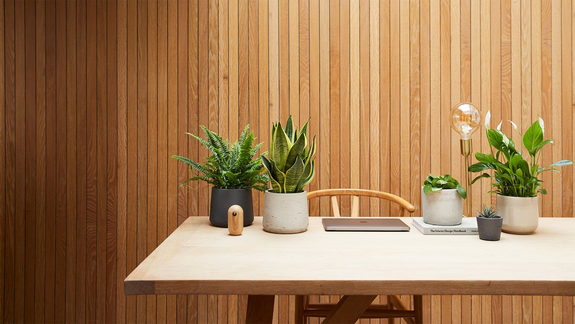
[[[333,216],[339,217],[339,206],[337,196],[352,196],[351,217],[359,214],[359,196],[375,197],[393,201],[400,205],[398,216],[406,216],[405,211],[412,213],[415,207],[405,199],[392,195],[391,193],[367,190],[367,189],[323,189],[308,192],[308,200],[316,197],[331,196]],[[388,295],[387,304],[371,304],[363,312],[361,318],[403,318],[408,324],[421,323],[423,302],[421,295],[413,295],[413,310],[408,310],[401,302],[399,296]],[[309,296],[296,296],[296,323],[304,323],[305,318],[326,317],[333,310],[337,303],[309,303]]]

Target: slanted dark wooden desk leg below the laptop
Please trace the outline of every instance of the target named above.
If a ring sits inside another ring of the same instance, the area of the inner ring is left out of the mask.
[[[377,295],[345,295],[322,324],[355,323]]]

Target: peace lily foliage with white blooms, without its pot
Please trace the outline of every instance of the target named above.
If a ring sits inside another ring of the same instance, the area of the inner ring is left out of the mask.
[[[489,128],[490,115],[488,112],[485,118],[485,128],[491,152],[490,154],[476,153],[475,157],[478,162],[471,165],[469,171],[481,172],[492,169],[494,173],[493,176],[483,173],[471,181],[471,184],[480,178],[493,178],[495,183],[492,186],[497,189],[489,193],[511,197],[535,197],[538,193],[545,195],[547,191],[539,188],[543,184],[543,180],[539,179],[539,174],[545,171],[559,172],[555,167],[570,165],[573,161],[561,160],[540,167],[541,149],[549,143],[553,144],[553,139],[543,140],[545,124],[540,117],[525,134],[521,134],[515,123],[509,121],[519,133],[520,142],[522,142],[516,147],[513,140],[500,131],[501,123],[497,129]],[[523,147],[527,151],[526,155],[523,155]]]

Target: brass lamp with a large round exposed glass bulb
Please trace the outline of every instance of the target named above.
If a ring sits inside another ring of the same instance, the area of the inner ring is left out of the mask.
[[[461,154],[465,156],[465,190],[467,191],[466,215],[471,216],[471,174],[469,173],[469,160],[472,151],[471,134],[480,127],[481,113],[470,102],[455,105],[450,112],[451,127],[461,136]]]

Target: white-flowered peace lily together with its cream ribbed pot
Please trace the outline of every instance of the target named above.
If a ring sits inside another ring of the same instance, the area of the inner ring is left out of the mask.
[[[493,178],[495,183],[492,186],[496,189],[489,193],[497,194],[499,215],[503,217],[502,230],[513,234],[531,234],[539,225],[538,194],[547,193],[545,189],[539,188],[543,183],[539,174],[545,171],[559,172],[555,167],[570,165],[573,161],[561,160],[539,167],[541,148],[549,143],[553,144],[553,139],[543,140],[545,124],[540,117],[525,134],[521,134],[515,123],[509,121],[519,133],[520,142],[523,144],[520,143],[518,147],[501,132],[501,123],[497,129],[489,128],[489,119],[488,112],[485,128],[490,153],[476,153],[478,162],[471,165],[469,171],[493,170],[493,176],[483,173],[471,181],[471,184],[480,178]],[[526,155],[523,155],[523,151],[526,151]]]

